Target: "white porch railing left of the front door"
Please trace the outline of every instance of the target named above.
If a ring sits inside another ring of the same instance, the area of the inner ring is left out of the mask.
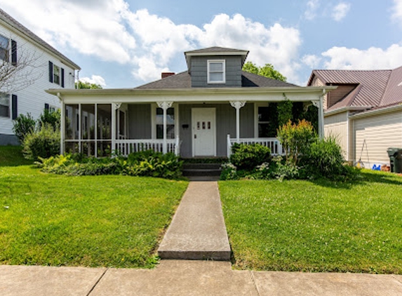
[[[166,151],[175,155],[180,155],[180,139],[176,137],[174,140],[166,140],[168,146]],[[133,152],[145,150],[154,150],[154,152],[163,152],[163,139],[158,140],[114,140],[114,149],[119,151],[121,155],[128,156]]]

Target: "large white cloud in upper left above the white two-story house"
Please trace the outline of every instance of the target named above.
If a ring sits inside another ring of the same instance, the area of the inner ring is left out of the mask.
[[[71,47],[102,60],[128,62],[135,38],[124,26],[123,0],[0,0],[1,8],[56,48]],[[23,7],[24,9],[21,9]]]

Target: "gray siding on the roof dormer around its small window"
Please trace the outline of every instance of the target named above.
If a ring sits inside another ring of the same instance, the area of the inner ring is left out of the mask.
[[[207,71],[208,60],[225,60],[226,83],[208,84]],[[194,88],[219,88],[219,87],[241,87],[241,56],[201,56],[192,57],[191,63],[192,87]]]

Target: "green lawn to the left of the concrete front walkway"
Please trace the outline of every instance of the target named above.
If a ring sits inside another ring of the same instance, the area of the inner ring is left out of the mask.
[[[15,150],[0,147],[0,264],[154,266],[187,182],[45,174]]]

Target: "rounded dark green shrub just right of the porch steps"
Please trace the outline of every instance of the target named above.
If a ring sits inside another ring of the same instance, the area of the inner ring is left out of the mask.
[[[253,170],[269,161],[271,150],[262,144],[234,144],[229,161],[238,170]]]

